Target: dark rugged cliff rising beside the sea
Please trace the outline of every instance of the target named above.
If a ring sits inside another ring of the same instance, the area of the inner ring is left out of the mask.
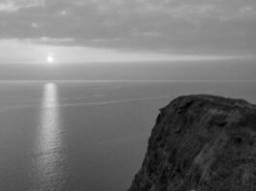
[[[160,110],[128,191],[255,191],[256,106],[180,96]]]

